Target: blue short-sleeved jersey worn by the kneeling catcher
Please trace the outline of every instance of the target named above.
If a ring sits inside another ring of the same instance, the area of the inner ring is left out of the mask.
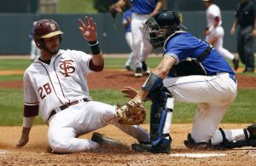
[[[174,57],[178,64],[179,61],[185,60],[188,57],[197,59],[207,47],[208,43],[191,35],[189,32],[176,31],[171,37],[167,38],[164,45],[164,55]],[[228,72],[235,75],[228,62],[215,48],[201,61],[201,64],[207,71],[208,76],[216,75],[218,72]]]

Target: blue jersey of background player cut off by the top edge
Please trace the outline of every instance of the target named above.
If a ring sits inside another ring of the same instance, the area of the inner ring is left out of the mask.
[[[158,0],[131,0],[132,12],[137,14],[151,14]]]

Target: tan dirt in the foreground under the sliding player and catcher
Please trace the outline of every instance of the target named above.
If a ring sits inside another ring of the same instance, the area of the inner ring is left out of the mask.
[[[222,124],[224,129],[244,128],[247,124]],[[148,129],[148,124],[143,125]],[[30,141],[21,149],[12,148],[20,138],[20,127],[0,127],[1,165],[255,165],[256,149],[239,148],[228,151],[192,151],[183,146],[183,140],[191,129],[191,124],[172,125],[171,154],[152,154],[104,149],[102,152],[80,152],[58,155],[48,150],[47,126],[34,126]],[[136,142],[113,126],[97,130],[127,146]],[[4,135],[4,136],[3,136]],[[81,138],[90,139],[92,133]],[[178,157],[178,156],[187,157]],[[189,155],[196,155],[189,157]],[[203,157],[214,155],[215,157]]]

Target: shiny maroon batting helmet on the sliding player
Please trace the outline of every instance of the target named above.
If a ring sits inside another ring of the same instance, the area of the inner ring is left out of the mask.
[[[63,34],[63,32],[60,30],[55,20],[38,20],[38,22],[34,26],[33,37],[39,49],[42,49],[44,46],[44,38],[55,37],[61,34]]]

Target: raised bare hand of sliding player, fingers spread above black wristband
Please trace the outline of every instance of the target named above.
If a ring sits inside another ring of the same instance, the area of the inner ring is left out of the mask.
[[[85,16],[84,22],[83,20],[79,19],[79,25],[79,30],[81,31],[82,37],[84,37],[85,40],[96,41],[96,23],[92,18],[89,19],[88,16]]]

